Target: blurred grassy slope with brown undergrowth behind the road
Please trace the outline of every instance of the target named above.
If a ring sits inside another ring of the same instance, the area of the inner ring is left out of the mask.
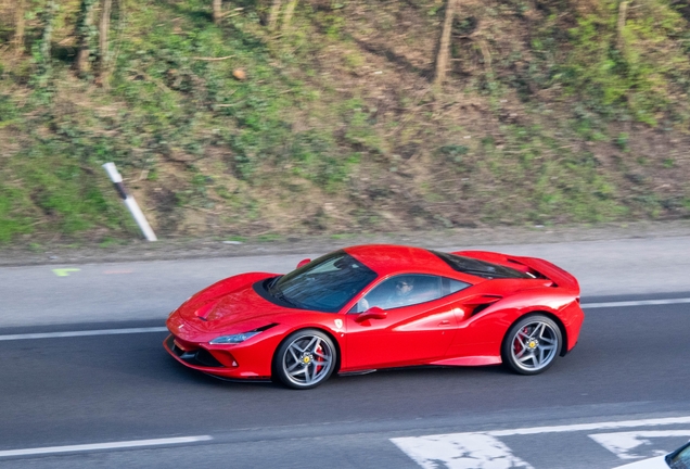
[[[621,46],[614,1],[462,2],[434,94],[443,3],[303,1],[271,37],[248,0],[125,1],[104,88],[64,2],[50,74],[0,49],[0,241],[131,236],[107,161],[162,236],[690,214],[682,11],[631,3]]]

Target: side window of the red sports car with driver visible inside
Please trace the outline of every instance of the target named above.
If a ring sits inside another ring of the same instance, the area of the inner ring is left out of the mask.
[[[393,309],[438,300],[469,287],[455,279],[431,275],[401,275],[384,280],[361,299],[350,313],[362,313],[378,306]]]

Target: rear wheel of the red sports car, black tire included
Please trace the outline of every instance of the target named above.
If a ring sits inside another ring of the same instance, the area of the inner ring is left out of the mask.
[[[538,375],[553,365],[563,345],[561,329],[537,314],[516,321],[503,338],[503,364],[519,375]]]

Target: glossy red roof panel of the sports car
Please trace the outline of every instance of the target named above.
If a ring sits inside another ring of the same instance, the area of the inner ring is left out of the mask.
[[[422,248],[366,244],[345,248],[344,251],[380,276],[414,271],[453,278],[465,277],[458,276],[458,272],[440,257]]]

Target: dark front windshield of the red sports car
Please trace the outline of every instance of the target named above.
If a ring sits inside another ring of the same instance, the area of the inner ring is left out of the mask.
[[[336,313],[375,278],[369,267],[336,251],[280,277],[268,291],[298,308]]]

